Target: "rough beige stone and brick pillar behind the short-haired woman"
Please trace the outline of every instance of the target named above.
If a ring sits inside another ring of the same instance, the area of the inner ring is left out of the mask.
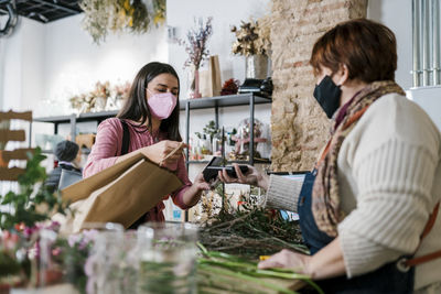
[[[319,36],[336,23],[365,18],[367,0],[273,0],[271,12],[272,170],[310,170],[330,122],[312,96],[308,61]]]

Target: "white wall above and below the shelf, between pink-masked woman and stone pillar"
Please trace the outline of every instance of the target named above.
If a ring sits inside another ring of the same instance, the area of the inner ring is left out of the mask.
[[[232,25],[240,25],[240,21],[249,21],[269,14],[270,0],[168,0],[166,22],[168,25],[176,28],[176,37],[186,40],[186,32],[194,26],[194,19],[203,18],[204,23],[208,17],[213,17],[213,35],[208,40],[208,50],[212,55],[219,56],[222,70],[222,83],[234,77],[244,81],[245,57],[235,56],[232,53],[232,44],[235,34]],[[181,99],[186,99],[186,70],[183,69],[187,53],[183,46],[176,43],[169,44],[169,63],[174,66],[181,77]],[[237,127],[240,120],[248,117],[248,107],[225,108],[219,110],[219,124],[225,127]],[[191,133],[201,132],[208,120],[214,120],[213,110],[197,110],[191,113]],[[270,123],[270,105],[257,106],[256,118]],[[184,117],[184,112],[181,113]],[[181,132],[185,135],[185,120],[181,119]]]

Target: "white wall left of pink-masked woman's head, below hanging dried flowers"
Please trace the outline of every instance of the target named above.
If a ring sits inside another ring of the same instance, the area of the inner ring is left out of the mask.
[[[109,35],[98,46],[82,29],[82,19],[78,14],[42,24],[20,18],[14,33],[0,40],[3,109],[31,109],[39,117],[67,115],[68,98],[90,90],[96,81],[131,80],[146,63],[168,61],[164,28]]]

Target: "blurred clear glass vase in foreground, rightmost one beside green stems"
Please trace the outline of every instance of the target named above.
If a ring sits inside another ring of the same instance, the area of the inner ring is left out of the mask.
[[[196,293],[197,227],[148,222],[138,228],[139,293]]]

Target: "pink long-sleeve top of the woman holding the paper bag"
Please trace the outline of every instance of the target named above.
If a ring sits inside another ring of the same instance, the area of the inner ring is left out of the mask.
[[[166,134],[162,132],[150,133],[147,127],[138,127],[137,122],[131,120],[125,120],[129,127],[130,144],[129,153],[140,148],[149,146],[155,142],[166,140]],[[121,154],[122,146],[122,124],[118,118],[110,118],[103,121],[98,126],[95,144],[92,148],[90,154],[87,157],[86,167],[83,171],[83,177],[92,176],[109,166],[112,166],[118,156]],[[189,179],[186,173],[184,159],[181,157],[174,167],[176,176],[182,181],[183,186],[171,195],[165,195],[163,200],[172,197],[173,203],[182,209],[189,209],[190,207],[183,203],[184,193],[192,182]],[[164,215],[162,210],[165,208],[163,202],[160,202],[153,207],[146,216],[146,221],[164,221]]]

